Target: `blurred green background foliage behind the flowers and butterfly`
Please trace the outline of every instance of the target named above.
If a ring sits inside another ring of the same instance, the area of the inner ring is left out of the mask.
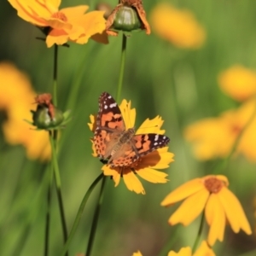
[[[116,0],[108,0],[112,6]],[[148,17],[160,1],[144,0]],[[92,255],[131,255],[138,249],[143,255],[160,255],[164,249],[179,250],[192,246],[199,220],[189,227],[171,227],[167,219],[176,207],[165,209],[160,201],[181,183],[209,174],[218,160],[195,160],[191,146],[183,139],[183,128],[194,121],[217,116],[238,105],[218,88],[218,73],[234,64],[256,67],[256,2],[253,0],[179,0],[166,1],[180,9],[189,9],[207,32],[200,49],[178,49],[152,32],[135,32],[128,39],[122,98],[137,108],[138,127],[144,119],[160,114],[163,128],[171,138],[170,151],[175,162],[166,170],[170,182],[142,183],[146,195],[117,188],[108,179],[102,212]],[[95,1],[66,0],[61,7]],[[150,23],[150,20],[149,20]],[[16,15],[7,1],[0,3],[0,61],[12,61],[28,74],[38,93],[51,92],[53,48],[47,49],[38,28]],[[60,151],[61,185],[68,230],[80,201],[90,183],[101,172],[102,164],[91,156],[87,123],[98,110],[98,96],[108,91],[115,96],[119,78],[121,36],[109,38],[108,45],[70,43],[59,48],[58,102],[65,110],[73,84],[79,83],[73,119],[63,131]],[[0,93],[2,93],[0,91]],[[1,121],[5,118],[0,115]],[[22,146],[10,146],[0,131],[0,255],[43,255],[47,181],[46,164],[26,159]],[[255,195],[255,164],[242,157],[233,160],[224,175],[230,189],[240,199],[252,229]],[[99,186],[84,209],[79,229],[70,247],[70,255],[84,253]],[[61,222],[54,193],[51,208],[50,255],[62,248]],[[207,236],[207,229],[206,229]],[[217,255],[249,254],[256,247],[255,235],[234,234],[227,227],[224,242],[217,242]],[[165,253],[163,254],[165,255]]]

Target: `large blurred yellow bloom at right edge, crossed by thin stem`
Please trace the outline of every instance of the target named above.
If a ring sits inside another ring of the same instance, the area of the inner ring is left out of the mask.
[[[236,154],[243,154],[248,160],[256,161],[256,102],[249,100],[236,110],[229,110],[218,118],[202,119],[189,125],[184,137],[193,143],[195,157],[199,160],[224,158],[230,154],[237,137]]]

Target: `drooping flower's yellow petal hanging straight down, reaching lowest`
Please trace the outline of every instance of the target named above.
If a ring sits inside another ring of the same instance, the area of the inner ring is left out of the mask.
[[[217,194],[212,194],[206,206],[207,223],[210,225],[207,241],[212,246],[215,241],[223,241],[226,217],[224,208],[218,200]]]

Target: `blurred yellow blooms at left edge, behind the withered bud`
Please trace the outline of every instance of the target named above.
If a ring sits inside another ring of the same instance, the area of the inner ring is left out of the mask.
[[[7,113],[3,134],[10,144],[21,144],[30,159],[49,160],[50,145],[46,131],[32,131],[24,119],[32,119],[30,110],[35,108],[36,94],[29,79],[14,65],[0,64],[0,109]]]

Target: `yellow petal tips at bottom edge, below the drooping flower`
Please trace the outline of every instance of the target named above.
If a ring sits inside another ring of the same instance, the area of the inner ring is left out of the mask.
[[[206,241],[202,241],[201,246],[193,254],[190,247],[183,247],[178,253],[169,252],[168,256],[215,256],[215,253],[207,245]]]

